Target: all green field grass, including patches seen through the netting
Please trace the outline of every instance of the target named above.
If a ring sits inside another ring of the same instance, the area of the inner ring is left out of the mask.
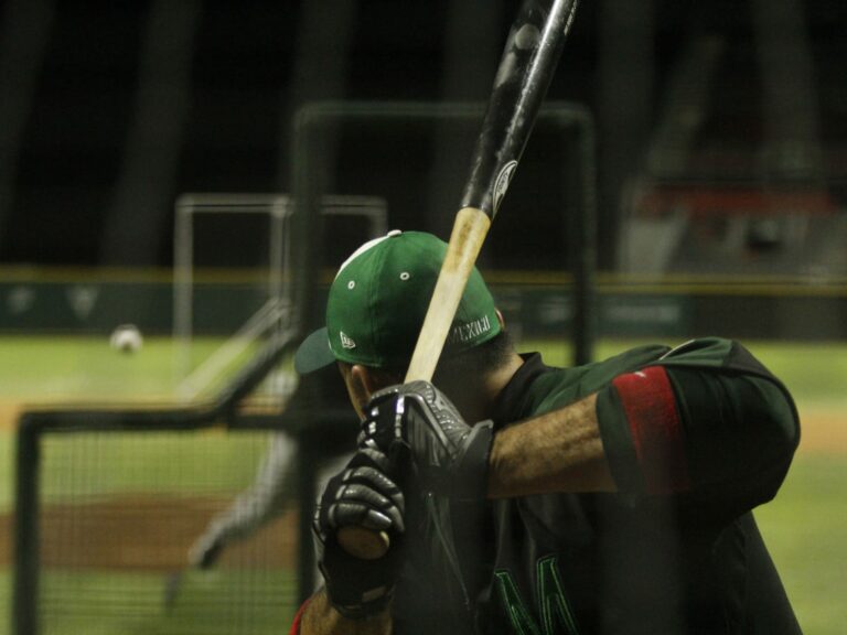
[[[667,344],[679,344],[668,341]],[[218,343],[204,341],[193,348],[192,364],[207,357]],[[596,357],[602,358],[623,351],[639,342],[607,341],[598,345]],[[796,344],[747,342],[759,356],[792,389],[801,413],[830,412],[847,423],[847,344]],[[542,349],[549,364],[567,364],[570,351],[562,343],[525,342],[524,349]],[[167,338],[149,340],[136,355],[122,355],[108,347],[104,338],[96,337],[0,337],[0,403],[55,401],[148,401],[172,399],[179,395],[181,376],[175,370],[176,351]],[[219,381],[222,378],[218,378]],[[211,387],[213,388],[213,387]],[[2,413],[2,410],[0,410]],[[12,491],[13,434],[0,426],[0,512],[8,512]],[[83,435],[81,435],[83,437]],[[82,441],[82,439],[81,439]],[[219,489],[235,492],[251,480],[255,469],[255,441],[239,439],[237,434],[219,431],[203,432],[194,439],[195,449],[181,453],[180,443],[168,434],[151,434],[148,439],[133,437],[110,441],[109,452],[98,456],[104,474],[101,480],[110,492],[142,489],[146,492],[192,493]],[[196,444],[200,444],[196,446]],[[51,456],[72,453],[69,444],[57,444]],[[204,456],[214,455],[227,466],[226,482],[210,485],[208,466]],[[244,463],[250,456],[249,463]],[[131,459],[131,461],[130,461]],[[138,462],[156,465],[156,470],[125,472],[125,465]],[[239,469],[239,464],[242,469]],[[61,501],[72,485],[61,480],[47,486],[47,497]],[[847,455],[837,449],[814,452],[801,450],[786,482],[776,499],[757,510],[762,534],[780,569],[789,594],[805,632],[813,635],[836,635],[843,631],[844,598],[847,582]],[[103,579],[81,580],[79,590],[96,590]],[[205,633],[214,635],[218,625],[232,616],[230,609],[221,602],[212,615],[201,611],[203,604],[192,593],[217,593],[232,581],[224,577],[199,577],[190,585],[184,604],[172,614],[158,607],[149,614],[126,615],[118,609],[114,614],[86,622],[85,614],[65,615],[63,633],[146,633],[175,631],[179,621],[207,624]],[[139,577],[140,592],[151,599],[159,598],[163,580],[160,575]],[[108,585],[108,584],[106,584]],[[0,596],[9,598],[9,574],[0,570]],[[156,603],[158,600],[150,600]],[[281,610],[290,612],[292,606]],[[258,610],[257,610],[258,611]],[[0,604],[0,635],[7,633],[8,610]],[[285,620],[289,617],[286,614]],[[255,632],[264,633],[264,620],[276,622],[279,615],[255,617],[259,624]],[[207,621],[207,622],[203,622]],[[278,623],[278,622],[277,622]],[[196,628],[195,628],[196,629]],[[268,631],[269,632],[269,631]]]

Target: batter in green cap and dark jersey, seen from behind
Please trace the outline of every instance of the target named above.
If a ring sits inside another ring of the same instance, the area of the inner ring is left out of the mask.
[[[401,384],[446,245],[393,233],[330,290],[358,451],[314,519],[324,588],[291,633],[796,634],[752,509],[798,443],[785,387],[717,337],[573,368],[517,354],[478,271],[433,383]],[[339,530],[387,538],[357,559]]]

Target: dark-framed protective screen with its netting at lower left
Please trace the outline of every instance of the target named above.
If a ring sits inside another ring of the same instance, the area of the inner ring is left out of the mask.
[[[275,346],[207,407],[22,417],[14,633],[286,632],[314,584],[315,470],[355,426],[323,379],[285,413],[251,406]]]

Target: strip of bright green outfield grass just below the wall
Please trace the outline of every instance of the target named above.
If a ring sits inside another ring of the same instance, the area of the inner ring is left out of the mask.
[[[598,343],[596,357],[604,358],[651,341],[607,340]],[[682,341],[666,341],[668,345]],[[744,344],[792,389],[797,401],[847,402],[847,343],[776,343],[747,341]],[[201,338],[192,345],[192,366],[207,359],[221,345]],[[567,343],[526,341],[522,349],[538,349],[553,365],[569,364]],[[169,337],[147,338],[136,354],[121,354],[106,337],[0,337],[0,399],[18,401],[146,400],[178,395],[182,381],[180,349]],[[228,370],[237,367],[240,356]],[[214,389],[227,376],[226,369],[208,386]]]

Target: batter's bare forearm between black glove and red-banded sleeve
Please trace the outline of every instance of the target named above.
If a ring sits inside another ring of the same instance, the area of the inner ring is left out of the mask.
[[[600,439],[597,396],[497,432],[489,496],[615,489]]]

